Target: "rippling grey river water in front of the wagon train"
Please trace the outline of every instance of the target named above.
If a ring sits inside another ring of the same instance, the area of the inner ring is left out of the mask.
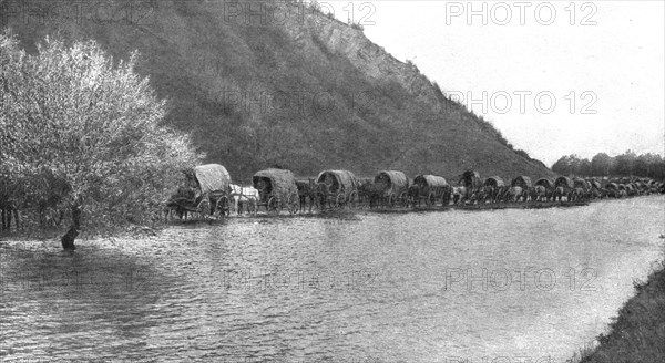
[[[662,257],[662,197],[0,243],[2,359],[561,361]]]

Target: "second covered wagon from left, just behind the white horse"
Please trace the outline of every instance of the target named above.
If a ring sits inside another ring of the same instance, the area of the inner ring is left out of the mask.
[[[287,209],[295,214],[299,210],[300,200],[294,173],[287,169],[265,169],[254,174],[254,187],[258,190],[258,206],[267,211],[279,212]]]

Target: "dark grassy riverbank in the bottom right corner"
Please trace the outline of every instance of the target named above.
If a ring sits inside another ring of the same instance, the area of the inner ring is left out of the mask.
[[[569,363],[665,362],[665,261],[646,282],[635,282],[635,292],[595,348],[582,350]]]

